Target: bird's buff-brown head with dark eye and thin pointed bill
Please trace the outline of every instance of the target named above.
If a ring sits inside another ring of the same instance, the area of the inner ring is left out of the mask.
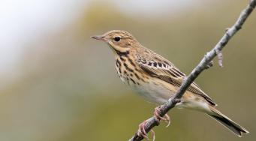
[[[129,52],[138,43],[132,34],[121,30],[108,31],[102,35],[92,36],[92,38],[106,42],[117,53]]]

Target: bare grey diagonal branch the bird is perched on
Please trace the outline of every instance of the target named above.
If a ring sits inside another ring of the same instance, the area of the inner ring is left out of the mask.
[[[199,76],[199,74],[202,71],[209,68],[212,59],[215,58],[216,55],[218,57],[218,64],[222,67],[221,50],[224,48],[224,46],[226,46],[230,38],[233,37],[233,35],[236,34],[236,32],[239,31],[240,28],[242,28],[243,23],[245,23],[245,20],[248,18],[251,11],[254,10],[255,5],[256,0],[251,0],[248,6],[245,7],[244,10],[242,10],[242,12],[239,15],[239,18],[236,20],[236,23],[231,28],[227,28],[224,36],[221,37],[221,40],[218,41],[218,43],[211,51],[207,52],[206,55],[204,55],[203,59],[200,61],[197,67],[194,68],[193,71],[191,71],[191,74],[189,74],[188,77],[185,77],[185,79],[182,82],[182,86],[179,87],[179,90],[176,92],[176,95],[174,95],[173,98],[170,98],[166,104],[161,105],[159,112],[160,116],[164,116],[169,110],[175,107],[177,103],[179,103],[180,98],[182,98],[182,95],[185,93],[185,91],[188,89],[191,83],[193,83],[193,81]],[[152,130],[153,127],[158,126],[158,123],[159,121],[155,119],[154,116],[149,118],[145,125],[146,133],[148,133],[149,130]],[[142,139],[143,136],[138,136],[138,133],[135,133],[134,136],[129,140],[140,141]]]

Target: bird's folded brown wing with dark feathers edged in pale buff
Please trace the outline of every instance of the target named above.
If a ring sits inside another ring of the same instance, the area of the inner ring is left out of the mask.
[[[167,83],[172,84],[173,86],[181,86],[182,80],[185,78],[185,74],[179,71],[171,62],[167,59],[161,57],[160,55],[155,55],[154,58],[137,58],[137,63],[139,64],[140,68],[149,74],[152,77],[156,77],[160,80],[163,80]],[[212,98],[209,98],[198,86],[196,83],[192,83],[191,86],[188,87],[189,92],[193,92],[196,95],[200,95],[209,104],[212,106],[216,106]]]

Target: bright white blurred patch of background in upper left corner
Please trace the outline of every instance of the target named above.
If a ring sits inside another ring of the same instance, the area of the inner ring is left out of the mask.
[[[83,0],[1,0],[0,78],[8,81],[15,77],[8,74],[19,67],[17,61],[26,43],[58,31],[83,10],[85,3]]]

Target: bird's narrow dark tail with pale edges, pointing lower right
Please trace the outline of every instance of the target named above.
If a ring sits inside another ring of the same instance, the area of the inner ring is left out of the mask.
[[[241,137],[242,133],[249,133],[248,130],[246,130],[244,127],[240,126],[239,124],[236,124],[236,122],[232,121],[226,115],[223,115],[221,112],[216,110],[215,107],[210,107],[210,111],[210,113],[207,113],[209,116],[215,118],[215,120],[223,124],[237,136]]]

